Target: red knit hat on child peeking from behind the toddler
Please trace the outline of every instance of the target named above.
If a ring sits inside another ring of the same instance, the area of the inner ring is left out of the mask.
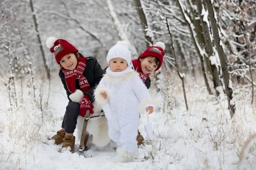
[[[155,70],[157,71],[159,70],[159,68],[163,63],[163,56],[165,55],[164,49],[165,49],[165,45],[163,42],[156,42],[154,46],[148,47],[148,49],[146,49],[138,59],[144,58],[144,57],[157,57],[160,61],[160,65]]]

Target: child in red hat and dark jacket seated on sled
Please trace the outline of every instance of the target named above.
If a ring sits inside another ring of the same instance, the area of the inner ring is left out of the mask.
[[[59,77],[69,99],[61,130],[58,130],[51,139],[55,144],[63,143],[62,149],[70,147],[73,152],[76,140],[73,133],[77,118],[79,115],[84,117],[87,110],[91,114],[95,111],[92,105],[93,92],[102,79],[103,71],[96,58],[84,57],[67,40],[49,37],[46,45],[61,67]]]

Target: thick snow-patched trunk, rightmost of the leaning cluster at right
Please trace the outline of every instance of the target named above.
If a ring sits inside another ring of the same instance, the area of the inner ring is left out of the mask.
[[[234,94],[233,94],[232,81],[228,73],[227,58],[225,56],[225,53],[222,47],[221,37],[219,36],[220,32],[218,30],[217,17],[213,9],[212,2],[211,0],[205,0],[205,1],[206,1],[208,13],[209,13],[210,23],[212,26],[212,34],[213,34],[215,46],[218,51],[218,55],[221,62],[221,69],[222,69],[225,91],[226,91],[228,105],[229,105],[230,116],[231,118],[233,118],[236,111],[236,103],[233,100]]]

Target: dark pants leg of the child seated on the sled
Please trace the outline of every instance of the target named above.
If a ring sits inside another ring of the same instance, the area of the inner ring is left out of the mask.
[[[74,133],[79,115],[79,103],[69,102],[61,125],[66,133]]]

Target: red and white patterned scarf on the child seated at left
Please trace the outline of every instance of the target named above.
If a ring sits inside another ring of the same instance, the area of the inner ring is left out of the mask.
[[[76,79],[79,79],[79,86],[81,88],[81,91],[84,93],[87,90],[90,89],[90,85],[87,81],[87,79],[83,76],[83,72],[86,66],[86,59],[83,56],[79,56],[77,59],[77,67],[70,71],[66,70],[65,68],[61,68],[64,75],[65,75],[65,80],[67,84],[67,88],[71,93],[75,93],[76,91]]]

